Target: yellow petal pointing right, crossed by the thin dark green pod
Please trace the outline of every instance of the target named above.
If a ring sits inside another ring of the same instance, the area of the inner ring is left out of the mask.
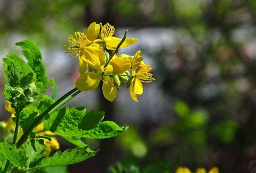
[[[122,39],[119,39],[117,37],[106,37],[103,39],[106,43],[106,48],[109,50],[116,50],[117,46],[121,42]],[[133,38],[127,38],[124,40],[123,44],[120,47],[127,47],[131,46],[135,42],[137,42],[138,39],[133,39]]]

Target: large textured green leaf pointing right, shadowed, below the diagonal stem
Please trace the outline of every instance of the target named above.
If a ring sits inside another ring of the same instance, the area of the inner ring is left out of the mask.
[[[44,131],[51,131],[60,136],[68,136],[75,138],[93,138],[104,139],[111,138],[126,131],[127,127],[119,127],[112,121],[103,121],[103,112],[89,112],[89,116],[86,116],[85,107],[72,107],[70,110],[68,107],[60,109],[58,112],[52,113],[44,120]],[[92,118],[95,116],[96,118]],[[89,129],[86,124],[86,120],[90,120],[89,127],[95,126],[96,122],[99,122],[95,128]],[[97,120],[97,121],[96,121]],[[93,122],[93,123],[92,123]],[[89,130],[87,130],[89,129]]]

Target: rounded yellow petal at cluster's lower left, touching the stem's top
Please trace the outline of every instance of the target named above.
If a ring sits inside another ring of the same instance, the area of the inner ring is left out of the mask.
[[[90,91],[99,85],[102,74],[87,72],[80,75],[76,81],[76,86],[80,91]]]

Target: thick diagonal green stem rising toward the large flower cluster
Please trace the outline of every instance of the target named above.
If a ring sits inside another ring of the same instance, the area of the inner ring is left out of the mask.
[[[43,121],[43,119],[46,115],[51,114],[52,112],[59,109],[59,107],[64,105],[66,102],[71,100],[73,97],[78,95],[78,93],[80,93],[80,92],[81,91],[79,91],[77,88],[70,90],[64,96],[60,97],[50,107],[48,107],[48,109],[45,110],[41,115],[37,116],[35,121],[33,121],[33,123],[29,126],[29,128],[23,133],[23,135],[21,136],[21,139],[19,139],[19,141],[17,142],[16,147],[19,148],[23,145],[23,143],[29,138],[29,134],[30,134],[30,132],[32,132],[33,128],[35,128],[37,125],[39,125]]]

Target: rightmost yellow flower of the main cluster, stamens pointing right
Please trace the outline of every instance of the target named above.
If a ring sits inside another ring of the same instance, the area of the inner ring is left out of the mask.
[[[149,65],[145,65],[138,70],[136,73],[136,70],[141,66],[143,56],[140,56],[141,51],[138,51],[135,53],[133,60],[132,60],[132,81],[130,85],[130,95],[131,98],[138,102],[137,95],[141,95],[143,93],[143,85],[142,82],[144,83],[149,83],[154,80],[152,78],[152,74],[149,73],[150,70],[152,70],[152,67]]]

